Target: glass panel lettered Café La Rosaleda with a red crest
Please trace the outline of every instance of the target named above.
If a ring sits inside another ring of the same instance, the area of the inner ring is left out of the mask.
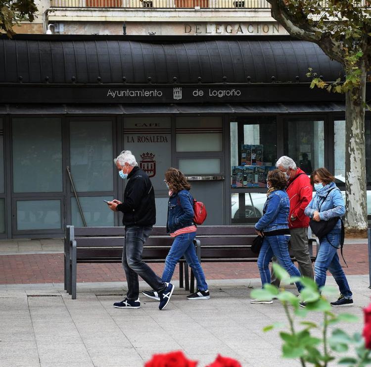
[[[137,158],[155,190],[166,190],[164,173],[171,162],[171,122],[167,117],[133,117],[124,121],[124,148]]]

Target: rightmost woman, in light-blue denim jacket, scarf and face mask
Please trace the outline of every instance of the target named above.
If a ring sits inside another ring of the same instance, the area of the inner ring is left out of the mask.
[[[340,290],[339,299],[330,302],[331,306],[353,306],[352,292],[337,255],[341,236],[340,217],[345,214],[345,205],[334,180],[335,177],[325,167],[318,168],[311,174],[311,183],[316,190],[316,196],[304,210],[304,213],[318,222],[339,217],[333,229],[321,238],[320,250],[314,264],[316,283],[319,287],[323,287],[326,282],[326,271],[329,270]],[[301,304],[301,306],[305,305]]]

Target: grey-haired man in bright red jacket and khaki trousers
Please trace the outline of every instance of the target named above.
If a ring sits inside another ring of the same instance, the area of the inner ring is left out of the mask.
[[[290,255],[295,256],[301,275],[314,278],[312,261],[308,249],[309,217],[304,214],[305,208],[312,200],[312,185],[307,174],[296,166],[287,156],[280,157],[276,167],[286,173],[286,192],[290,199],[288,227],[290,228]],[[279,286],[279,279],[272,274],[271,283]]]

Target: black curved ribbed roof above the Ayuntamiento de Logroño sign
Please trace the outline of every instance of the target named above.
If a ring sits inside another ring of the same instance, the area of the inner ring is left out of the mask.
[[[0,83],[308,82],[309,67],[327,81],[343,74],[316,44],[291,39],[38,37],[0,39]]]

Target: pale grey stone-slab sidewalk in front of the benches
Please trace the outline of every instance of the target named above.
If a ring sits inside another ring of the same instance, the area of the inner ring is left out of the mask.
[[[362,330],[362,307],[369,304],[371,290],[368,275],[348,279],[355,306],[333,312],[360,316],[357,323],[339,325],[356,332]],[[329,278],[327,283],[334,282]],[[218,353],[244,367],[300,366],[281,360],[277,330],[262,331],[272,322],[286,321],[278,301],[249,303],[251,288],[260,287],[258,279],[217,280],[209,286],[210,300],[188,301],[187,293],[176,288],[168,307],[159,311],[156,301],[144,297],[138,310],[113,308],[122,299],[121,283],[79,283],[76,300],[62,284],[0,285],[0,365],[142,367],[154,353],[181,350],[198,360],[198,367]],[[148,286],[141,283],[140,289]]]

